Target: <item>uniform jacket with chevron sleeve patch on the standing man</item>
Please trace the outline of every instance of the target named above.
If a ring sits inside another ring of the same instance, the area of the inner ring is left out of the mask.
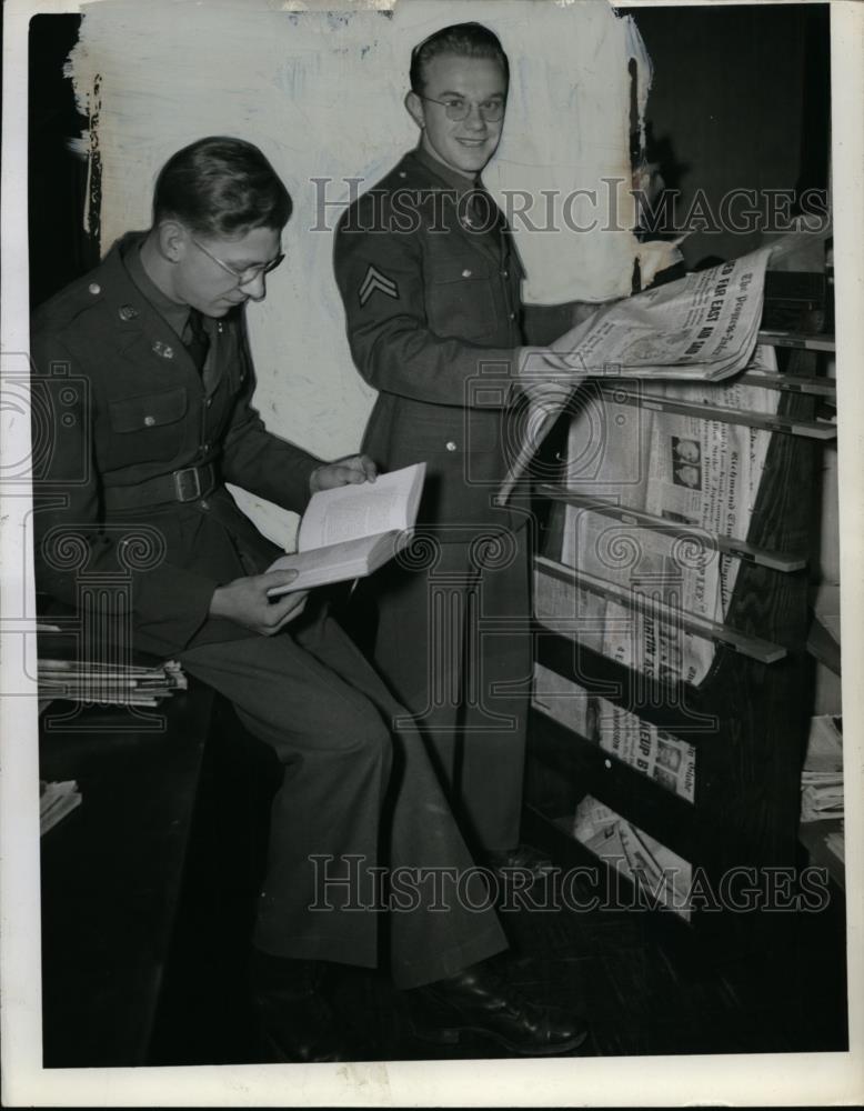
[[[445,526],[444,540],[510,522],[492,499],[506,471],[524,271],[495,213],[496,229],[470,227],[452,179],[418,150],[336,229],[351,352],[379,391],[363,450],[388,470],[426,461],[419,519]]]

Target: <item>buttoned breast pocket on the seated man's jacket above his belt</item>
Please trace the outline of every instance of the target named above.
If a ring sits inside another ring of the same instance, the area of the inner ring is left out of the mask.
[[[189,397],[183,386],[110,401],[110,463],[123,467],[174,459],[183,447],[188,409]]]

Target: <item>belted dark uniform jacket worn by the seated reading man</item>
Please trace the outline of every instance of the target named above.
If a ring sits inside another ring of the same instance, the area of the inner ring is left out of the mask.
[[[210,322],[204,386],[125,268],[138,239],[125,237],[32,320],[37,584],[76,605],[79,581],[128,581],[135,647],[165,654],[253,635],[208,617],[218,585],[278,554],[223,482],[302,512],[320,460],[269,433],[252,408],[242,310]],[[142,483],[207,462],[212,491],[134,504]]]

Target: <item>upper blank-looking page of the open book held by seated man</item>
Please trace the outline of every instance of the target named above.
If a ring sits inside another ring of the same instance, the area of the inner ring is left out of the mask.
[[[374,482],[313,494],[300,522],[298,550],[412,528],[424,474],[425,463],[415,463],[379,474]]]

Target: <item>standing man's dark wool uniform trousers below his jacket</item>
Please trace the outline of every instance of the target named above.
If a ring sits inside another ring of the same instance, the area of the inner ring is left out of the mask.
[[[528,528],[453,542],[418,530],[430,553],[363,584],[378,614],[373,658],[430,745],[472,849],[520,840],[532,643]],[[421,562],[421,561],[418,561]]]

